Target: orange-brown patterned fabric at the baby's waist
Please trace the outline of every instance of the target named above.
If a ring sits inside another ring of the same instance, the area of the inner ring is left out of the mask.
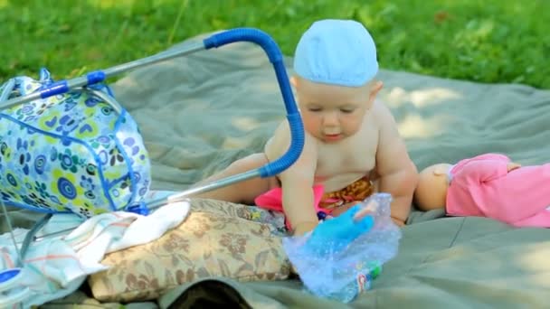
[[[323,194],[319,207],[333,210],[351,201],[363,201],[374,192],[375,186],[369,180],[369,177],[365,176],[342,190]]]

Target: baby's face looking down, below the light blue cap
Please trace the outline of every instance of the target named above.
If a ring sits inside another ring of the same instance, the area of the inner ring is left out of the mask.
[[[326,143],[356,134],[372,105],[369,85],[350,88],[299,78],[294,84],[306,131]]]

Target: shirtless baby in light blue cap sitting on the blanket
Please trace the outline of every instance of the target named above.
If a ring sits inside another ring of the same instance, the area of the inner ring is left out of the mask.
[[[295,164],[276,177],[251,179],[198,195],[279,209],[294,235],[318,225],[318,210],[337,216],[373,192],[394,200],[392,218],[402,226],[411,211],[418,173],[390,110],[376,100],[383,83],[375,42],[361,23],[322,20],[302,35],[294,57],[296,90],[306,136]],[[264,152],[242,158],[209,183],[257,169],[289,149],[283,121]]]

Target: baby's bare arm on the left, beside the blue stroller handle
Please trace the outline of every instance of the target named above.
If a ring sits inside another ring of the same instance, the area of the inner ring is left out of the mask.
[[[275,132],[265,147],[272,162],[289,148],[289,127],[285,123]],[[318,225],[314,208],[313,182],[317,166],[317,147],[313,137],[308,136],[299,159],[279,175],[282,189],[282,205],[294,235],[302,235]]]

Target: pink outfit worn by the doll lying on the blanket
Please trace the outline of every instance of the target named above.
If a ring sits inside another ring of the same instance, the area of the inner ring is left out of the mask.
[[[550,164],[507,172],[506,155],[461,160],[450,169],[447,213],[479,216],[516,227],[550,227]]]

